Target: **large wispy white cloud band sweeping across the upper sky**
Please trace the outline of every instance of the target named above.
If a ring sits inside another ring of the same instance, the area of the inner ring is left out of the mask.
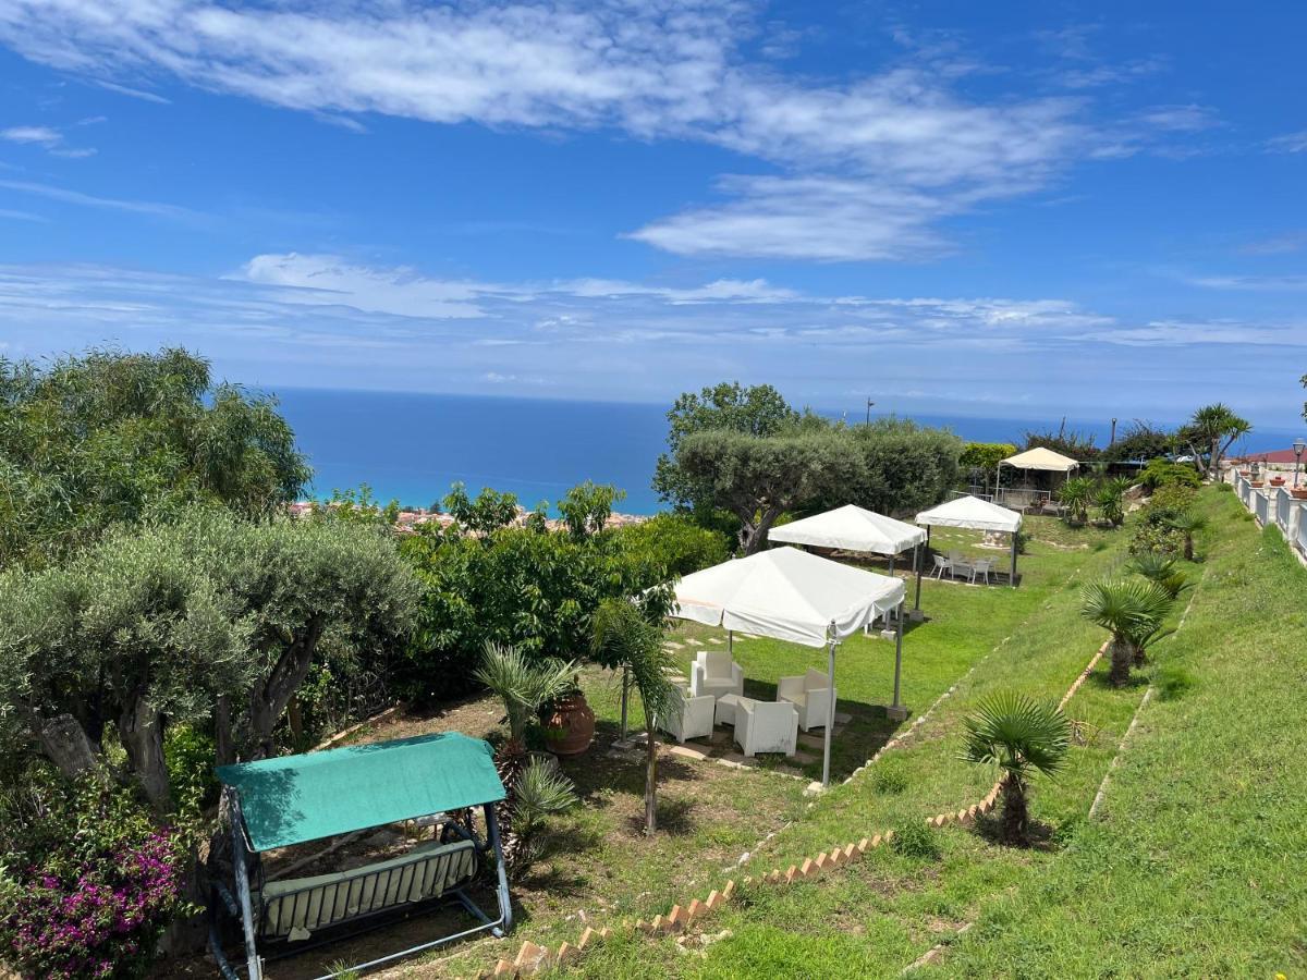
[[[380,112],[491,127],[614,127],[780,167],[725,178],[721,203],[633,231],[682,255],[938,253],[948,250],[941,221],[1036,189],[1091,152],[1081,102],[966,99],[949,88],[958,72],[920,51],[915,67],[881,67],[844,82],[780,76],[744,54],[758,30],[754,14],[746,0],[312,8],[133,0],[111,12],[81,0],[0,0],[0,39],[118,86],[162,72],[337,122]]]

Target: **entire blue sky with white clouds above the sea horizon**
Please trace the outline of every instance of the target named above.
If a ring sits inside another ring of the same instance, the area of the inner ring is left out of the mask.
[[[0,0],[0,355],[1297,430],[1297,3]]]

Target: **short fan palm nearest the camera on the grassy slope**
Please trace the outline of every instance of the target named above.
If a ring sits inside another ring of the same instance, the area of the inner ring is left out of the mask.
[[[997,766],[1002,771],[1002,840],[1030,843],[1027,804],[1031,772],[1052,776],[1061,768],[1070,743],[1070,723],[1051,702],[1000,691],[965,717],[963,762]]]

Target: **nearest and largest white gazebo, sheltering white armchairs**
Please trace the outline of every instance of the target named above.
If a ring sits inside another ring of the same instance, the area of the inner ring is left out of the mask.
[[[835,687],[835,647],[880,615],[903,605],[899,579],[852,568],[797,547],[775,547],[686,575],[676,584],[672,615],[804,647],[826,647]],[[903,617],[894,644],[894,704],[899,711],[903,666]],[[830,737],[835,699],[830,699],[822,760],[822,785],[830,783]]]

